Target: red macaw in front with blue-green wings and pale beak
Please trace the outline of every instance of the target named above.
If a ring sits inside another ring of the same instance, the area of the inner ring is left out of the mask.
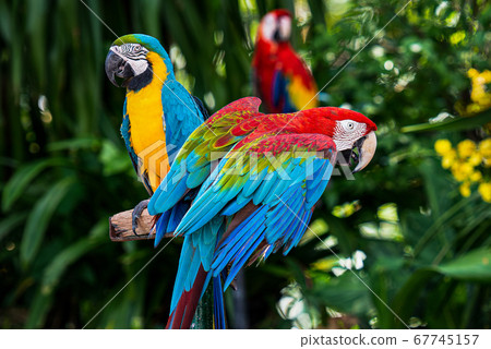
[[[199,127],[148,203],[151,215],[161,214],[157,233],[184,238],[167,328],[189,328],[212,278],[215,324],[225,328],[223,292],[246,263],[280,248],[286,255],[300,241],[337,153],[350,153],[355,171],[373,157],[376,125],[359,112],[266,115],[260,105],[255,97],[236,100]],[[169,226],[190,193],[191,206]]]

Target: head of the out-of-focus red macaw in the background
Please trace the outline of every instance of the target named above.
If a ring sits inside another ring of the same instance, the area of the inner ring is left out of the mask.
[[[259,38],[270,43],[287,43],[291,35],[291,14],[287,10],[268,12],[260,23]]]

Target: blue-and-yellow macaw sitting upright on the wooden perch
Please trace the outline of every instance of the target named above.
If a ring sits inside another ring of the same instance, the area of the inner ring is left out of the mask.
[[[130,34],[116,39],[105,68],[112,84],[127,88],[121,134],[136,174],[152,195],[207,111],[176,80],[169,56],[152,36]],[[147,203],[133,210],[133,232]]]

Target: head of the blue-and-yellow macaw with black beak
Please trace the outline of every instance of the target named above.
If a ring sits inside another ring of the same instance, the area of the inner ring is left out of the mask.
[[[159,74],[159,79],[173,76],[169,56],[156,38],[143,34],[121,36],[109,48],[106,74],[115,86],[137,91],[152,82],[152,68],[156,60],[164,61],[167,70],[165,74]],[[122,83],[118,84],[116,77],[121,79]]]

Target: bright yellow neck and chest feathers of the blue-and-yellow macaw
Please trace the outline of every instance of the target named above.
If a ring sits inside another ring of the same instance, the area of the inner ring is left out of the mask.
[[[127,93],[127,112],[130,118],[131,145],[139,157],[139,174],[146,172],[155,191],[169,170],[161,106],[161,87],[167,69],[157,53],[149,52],[147,60],[152,63],[154,76],[142,89]]]

